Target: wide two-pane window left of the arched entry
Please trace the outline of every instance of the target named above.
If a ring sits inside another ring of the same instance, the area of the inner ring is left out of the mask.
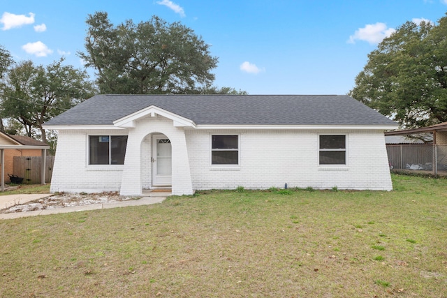
[[[127,135],[90,135],[89,165],[124,165]]]

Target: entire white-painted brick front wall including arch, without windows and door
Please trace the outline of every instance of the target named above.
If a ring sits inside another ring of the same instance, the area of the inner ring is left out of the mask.
[[[124,165],[87,165],[89,134],[129,133]],[[391,190],[381,131],[200,131],[147,117],[129,131],[59,131],[51,191],[120,191],[139,195],[151,186],[151,134],[166,135],[173,147],[173,193],[197,189],[306,188]],[[240,135],[240,165],[212,166],[212,134]],[[318,165],[318,133],[346,134],[347,165]]]

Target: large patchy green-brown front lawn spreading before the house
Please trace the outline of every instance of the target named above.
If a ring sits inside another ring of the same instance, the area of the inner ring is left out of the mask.
[[[3,220],[0,297],[441,297],[447,180],[393,184]]]

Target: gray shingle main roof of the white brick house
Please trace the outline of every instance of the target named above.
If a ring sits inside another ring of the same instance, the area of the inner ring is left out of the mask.
[[[343,95],[97,95],[45,125],[112,125],[151,105],[198,125],[397,125]]]

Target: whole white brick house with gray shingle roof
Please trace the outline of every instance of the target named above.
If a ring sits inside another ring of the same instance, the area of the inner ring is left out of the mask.
[[[94,96],[59,131],[51,191],[391,190],[390,119],[349,96]]]

